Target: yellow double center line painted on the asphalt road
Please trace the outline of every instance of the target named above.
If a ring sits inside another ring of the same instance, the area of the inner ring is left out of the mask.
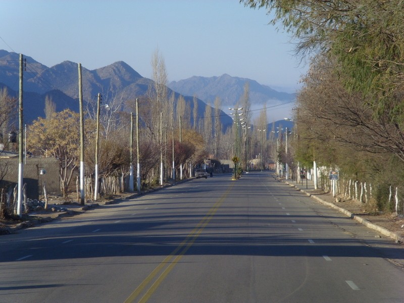
[[[147,302],[150,296],[156,291],[157,287],[159,287],[160,283],[166,278],[166,276],[170,273],[170,271],[174,268],[174,266],[181,260],[182,256],[185,255],[187,250],[192,246],[200,233],[205,229],[208,223],[212,220],[213,216],[216,214],[220,205],[223,203],[223,200],[229,194],[231,188],[234,183],[228,187],[226,192],[219,198],[219,200],[215,203],[215,205],[209,210],[209,212],[205,215],[205,217],[200,220],[200,222],[196,225],[196,227],[186,236],[186,238],[178,245],[177,248],[174,249],[173,252],[166,259],[163,260],[144,280],[143,282],[137,286],[137,288],[130,294],[130,296],[125,300],[125,303],[132,303],[134,300],[140,295],[143,290],[148,287],[147,291],[138,301],[139,303]],[[160,276],[154,281],[157,275]],[[154,282],[153,282],[154,281]]]

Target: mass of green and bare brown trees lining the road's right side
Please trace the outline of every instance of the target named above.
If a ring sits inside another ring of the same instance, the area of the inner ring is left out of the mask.
[[[311,168],[316,161],[336,169],[341,194],[352,197],[359,187],[354,197],[369,210],[402,214],[404,3],[240,2],[267,10],[269,22],[295,39],[296,55],[310,62],[297,97],[290,165]]]

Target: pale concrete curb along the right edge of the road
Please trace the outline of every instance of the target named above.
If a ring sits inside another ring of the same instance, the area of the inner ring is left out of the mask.
[[[358,221],[359,223],[365,225],[366,227],[371,228],[373,230],[376,230],[376,231],[380,232],[381,234],[383,234],[383,235],[385,235],[385,236],[387,236],[389,238],[392,238],[397,243],[400,243],[400,242],[403,243],[404,242],[404,237],[396,234],[393,231],[388,230],[387,228],[384,228],[384,227],[381,227],[381,226],[379,226],[377,224],[374,224],[374,223],[362,218],[361,216],[355,215],[354,213],[351,213],[348,210],[345,210],[345,209],[343,209],[343,208],[341,208],[341,207],[339,207],[339,206],[337,206],[337,205],[335,205],[335,204],[333,204],[331,202],[324,201],[323,199],[319,198],[318,196],[313,195],[313,194],[307,192],[304,189],[300,189],[297,186],[295,186],[293,184],[290,184],[287,181],[285,181],[285,183],[288,184],[289,186],[297,188],[299,191],[305,193],[309,197],[314,198],[315,200],[319,201],[321,204],[324,204],[324,205],[329,206],[329,207],[331,207],[333,209],[336,209],[338,212],[346,215],[347,217],[349,217],[351,219],[354,219],[354,220]]]

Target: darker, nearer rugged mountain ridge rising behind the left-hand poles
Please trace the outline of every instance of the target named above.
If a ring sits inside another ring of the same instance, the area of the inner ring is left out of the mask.
[[[44,117],[45,96],[51,95],[56,103],[56,110],[70,108],[78,111],[78,64],[64,61],[53,67],[46,67],[31,57],[24,56],[26,67],[24,71],[24,120],[30,123],[37,117]],[[153,80],[142,77],[123,61],[115,62],[106,67],[88,70],[82,66],[83,99],[95,102],[98,93],[103,94],[103,100],[108,102],[111,95],[124,100],[134,100],[146,95],[147,88]],[[8,87],[11,95],[17,96],[19,91],[19,55],[0,50],[0,87]],[[169,94],[178,92],[169,89]],[[193,109],[193,97],[184,96],[185,101]],[[203,117],[205,107],[198,99],[198,116]],[[229,116],[221,116],[223,125],[231,125]],[[191,121],[193,123],[193,121]]]

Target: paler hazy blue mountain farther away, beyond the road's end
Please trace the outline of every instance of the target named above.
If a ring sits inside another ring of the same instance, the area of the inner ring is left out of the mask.
[[[251,104],[268,106],[294,100],[294,93],[279,92],[269,86],[261,85],[255,80],[231,77],[224,74],[220,77],[193,76],[185,80],[173,81],[168,87],[183,95],[196,95],[206,103],[214,103],[218,96],[223,106],[234,106],[244,93],[245,83],[249,83],[249,97]]]

